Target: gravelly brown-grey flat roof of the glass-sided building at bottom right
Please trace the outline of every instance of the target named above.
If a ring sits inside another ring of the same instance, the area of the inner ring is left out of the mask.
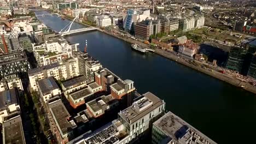
[[[170,111],[155,121],[153,125],[165,135],[171,137],[170,140],[177,141],[180,144],[186,144],[187,140],[194,141],[194,143],[206,143],[203,141],[208,141],[209,144],[217,144]],[[198,139],[199,136],[200,139]]]

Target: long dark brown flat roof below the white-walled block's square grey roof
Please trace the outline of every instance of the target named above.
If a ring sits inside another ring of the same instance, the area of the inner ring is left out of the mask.
[[[53,115],[55,122],[57,123],[57,127],[62,131],[62,134],[65,135],[71,131],[73,129],[72,124],[67,121],[67,118],[69,118],[70,115],[62,101],[60,99],[56,100],[53,103],[49,103],[48,106],[51,111],[51,115]]]

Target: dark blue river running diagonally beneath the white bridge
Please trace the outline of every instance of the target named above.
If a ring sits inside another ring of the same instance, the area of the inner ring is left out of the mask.
[[[49,14],[37,11],[36,15]],[[69,23],[56,15],[38,16],[59,32]],[[83,28],[73,23],[71,29]],[[103,67],[135,82],[139,93],[154,93],[172,111],[218,143],[255,143],[256,97],[254,94],[214,79],[164,57],[131,50],[131,45],[99,31],[66,36],[79,43]]]

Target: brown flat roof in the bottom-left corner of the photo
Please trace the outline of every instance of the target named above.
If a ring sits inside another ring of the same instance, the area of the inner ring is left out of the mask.
[[[20,115],[3,123],[3,137],[5,143],[26,143]]]

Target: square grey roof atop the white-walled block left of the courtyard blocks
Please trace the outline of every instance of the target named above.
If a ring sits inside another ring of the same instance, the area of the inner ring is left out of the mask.
[[[53,76],[39,80],[38,86],[43,94],[50,93],[54,89],[59,88],[55,80],[53,79]]]

